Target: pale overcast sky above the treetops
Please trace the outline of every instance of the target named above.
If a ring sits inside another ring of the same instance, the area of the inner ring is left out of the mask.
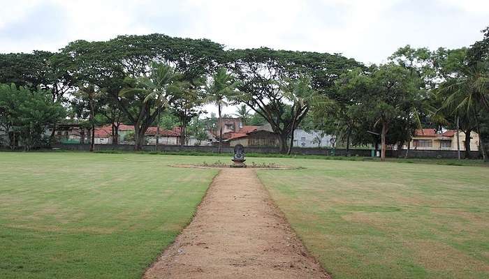
[[[489,25],[489,0],[0,0],[0,7],[0,52],[165,33],[228,48],[337,52],[381,63],[407,44],[469,46]]]

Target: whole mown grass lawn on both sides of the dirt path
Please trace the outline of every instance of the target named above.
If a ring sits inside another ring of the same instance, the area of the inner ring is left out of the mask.
[[[140,278],[217,173],[168,165],[217,160],[0,153],[0,278]],[[334,278],[489,278],[488,167],[253,162],[305,167],[258,176]]]

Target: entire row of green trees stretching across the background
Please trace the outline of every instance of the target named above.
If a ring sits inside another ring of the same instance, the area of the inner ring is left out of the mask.
[[[380,142],[384,159],[387,144],[409,142],[420,127],[457,126],[466,135],[487,135],[489,31],[484,32],[483,40],[459,50],[408,45],[380,66],[340,54],[224,50],[210,40],[161,34],[78,40],[56,53],[0,54],[0,83],[20,86],[8,85],[10,90],[49,92],[52,105],[62,104],[92,126],[110,123],[115,137],[120,123],[133,124],[136,149],[147,128],[159,127],[168,115],[179,121],[183,144],[189,123],[190,130],[202,126],[196,116],[203,104],[216,105],[218,119],[222,107],[239,104],[244,119],[251,110],[270,123],[284,153],[290,153],[293,130],[302,125],[335,135],[347,149]],[[10,112],[1,113],[5,123]]]

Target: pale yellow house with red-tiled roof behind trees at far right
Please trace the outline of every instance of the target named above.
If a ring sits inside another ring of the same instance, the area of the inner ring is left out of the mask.
[[[446,130],[444,133],[437,133],[435,129],[418,129],[415,131],[410,149],[416,150],[457,150],[457,131]],[[459,132],[460,150],[465,151],[465,133]],[[479,134],[470,133],[470,150],[479,150]],[[407,144],[402,146],[407,149]]]

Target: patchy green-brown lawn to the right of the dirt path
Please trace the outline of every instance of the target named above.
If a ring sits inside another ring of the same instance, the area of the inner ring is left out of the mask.
[[[258,176],[333,278],[489,278],[489,169],[290,160]]]

